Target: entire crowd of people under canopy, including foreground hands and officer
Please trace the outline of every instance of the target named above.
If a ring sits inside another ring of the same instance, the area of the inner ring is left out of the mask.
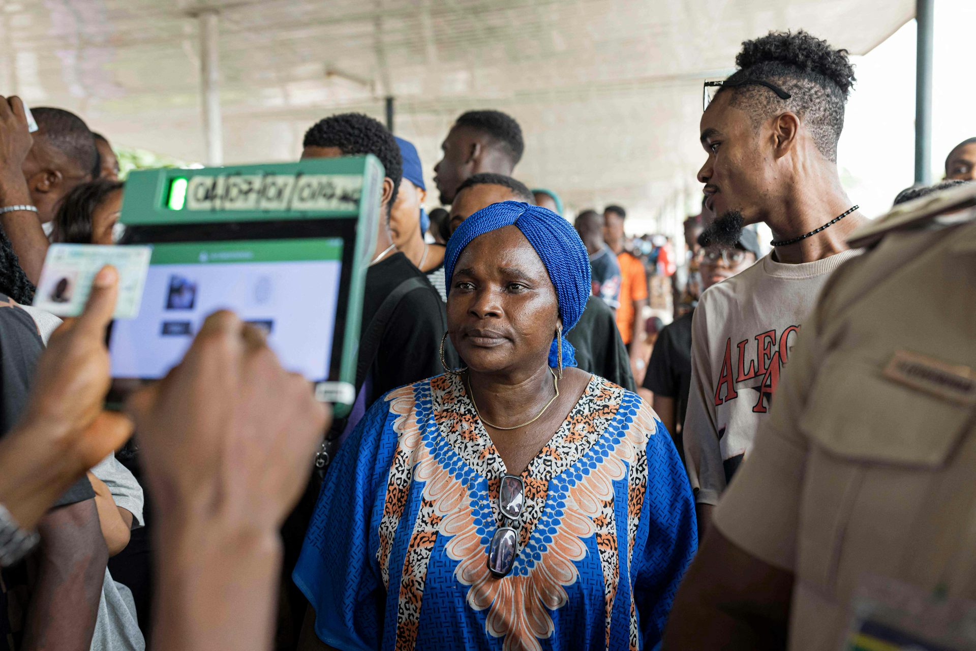
[[[380,122],[311,125],[303,160],[385,170],[342,419],[226,311],[107,411],[117,271],[31,303],[50,242],[124,245],[118,161],[0,101],[0,648],[973,648],[976,139],[894,198],[953,219],[873,224],[846,52],[735,62],[683,255],[519,181],[503,112],[455,121],[437,201]]]

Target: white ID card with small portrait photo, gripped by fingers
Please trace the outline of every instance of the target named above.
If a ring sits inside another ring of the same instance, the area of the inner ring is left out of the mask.
[[[52,244],[41,269],[34,306],[55,316],[78,316],[88,301],[95,274],[111,264],[119,273],[114,318],[136,318],[151,255],[151,246]]]

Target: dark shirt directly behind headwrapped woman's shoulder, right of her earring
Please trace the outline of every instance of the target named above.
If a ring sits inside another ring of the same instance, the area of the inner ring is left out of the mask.
[[[620,338],[613,310],[603,301],[590,297],[566,340],[576,348],[576,365],[581,370],[634,390],[627,346]]]

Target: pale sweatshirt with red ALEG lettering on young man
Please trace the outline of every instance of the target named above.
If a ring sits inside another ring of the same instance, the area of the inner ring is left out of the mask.
[[[702,295],[692,320],[683,429],[696,502],[718,503],[752,449],[803,319],[831,273],[860,253],[803,264],[777,263],[771,253]]]

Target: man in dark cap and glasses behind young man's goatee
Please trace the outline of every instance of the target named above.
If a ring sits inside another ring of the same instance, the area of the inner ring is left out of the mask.
[[[731,248],[708,244],[698,237],[696,263],[702,278],[702,292],[723,280],[745,271],[762,253],[752,228],[744,228],[739,241]],[[647,365],[643,387],[654,393],[654,411],[668,427],[679,453],[684,454],[681,430],[688,406],[691,385],[691,322],[694,307],[674,319],[658,335]]]

